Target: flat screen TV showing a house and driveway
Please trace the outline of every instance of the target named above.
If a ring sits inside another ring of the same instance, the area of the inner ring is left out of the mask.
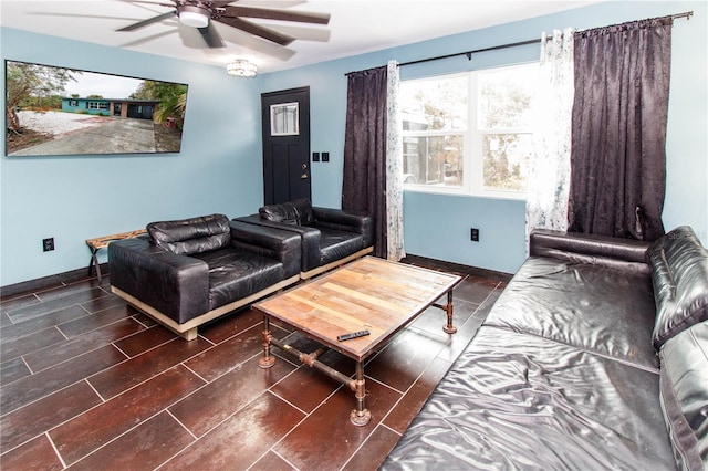
[[[6,61],[10,157],[178,153],[187,85]]]

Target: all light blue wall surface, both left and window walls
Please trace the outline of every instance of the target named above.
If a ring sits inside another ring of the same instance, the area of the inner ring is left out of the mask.
[[[431,2],[433,4],[434,2]],[[693,10],[673,30],[667,143],[667,229],[690,224],[708,245],[708,61],[706,2],[607,2],[375,53],[235,80],[219,67],[2,29],[2,59],[90,69],[189,84],[179,155],[20,159],[0,166],[0,285],[85,266],[86,238],[147,221],[208,212],[239,216],[262,205],[260,93],[310,86],[312,200],[340,207],[346,113],[345,73],[539,38],[541,31],[586,29]],[[509,49],[402,69],[403,78],[528,62],[537,46]],[[4,119],[4,117],[3,117]],[[503,272],[523,262],[523,202],[406,192],[408,253]],[[469,241],[469,228],[481,230]],[[41,240],[56,250],[43,253]],[[105,257],[105,255],[103,255]],[[102,259],[105,261],[105,259]]]

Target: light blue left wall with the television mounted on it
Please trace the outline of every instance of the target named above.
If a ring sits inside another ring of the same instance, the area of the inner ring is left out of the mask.
[[[6,157],[3,148],[0,285],[87,266],[88,238],[154,220],[236,217],[262,205],[258,78],[7,28],[0,34],[2,60],[189,85],[179,154],[22,158]],[[55,240],[53,252],[42,252],[48,237]]]

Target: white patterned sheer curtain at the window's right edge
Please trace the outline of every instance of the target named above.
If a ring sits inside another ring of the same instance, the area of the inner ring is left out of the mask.
[[[532,229],[568,229],[573,111],[573,32],[541,36],[541,61],[533,130],[535,158],[527,195],[527,253]]]

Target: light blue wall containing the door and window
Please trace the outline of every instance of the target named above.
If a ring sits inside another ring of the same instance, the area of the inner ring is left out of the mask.
[[[706,105],[706,2],[607,2],[566,12],[502,24],[437,40],[267,74],[263,90],[311,86],[313,151],[329,150],[332,161],[314,163],[313,201],[340,205],[342,154],[346,113],[345,73],[540,38],[541,31],[597,28],[625,21],[693,10],[689,20],[673,29],[673,70],[667,137],[667,193],[664,223],[694,227],[708,245],[708,142]],[[534,61],[538,45],[487,52],[402,67],[402,78]],[[524,259],[524,203],[485,198],[426,195],[406,191],[405,247],[408,253],[513,273]],[[480,242],[469,229],[480,229]]]

